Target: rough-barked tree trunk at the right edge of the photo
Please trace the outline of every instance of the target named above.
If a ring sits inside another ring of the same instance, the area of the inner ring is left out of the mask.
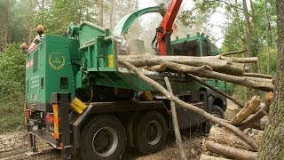
[[[277,0],[278,65],[275,75],[274,100],[270,108],[269,124],[265,127],[259,159],[284,157],[284,1]]]

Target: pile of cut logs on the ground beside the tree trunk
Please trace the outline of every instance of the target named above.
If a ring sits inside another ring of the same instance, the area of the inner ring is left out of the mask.
[[[259,121],[264,116],[268,116],[269,107],[271,105],[273,93],[266,93],[263,100],[260,100],[259,96],[254,96],[251,100],[248,100],[244,108],[233,117],[230,124],[237,126],[242,131],[248,132],[248,129],[254,129],[258,134],[250,134],[254,140],[260,144],[263,128],[259,127]],[[233,132],[226,130],[223,127],[214,125],[209,132],[209,138],[204,144],[206,155],[201,155],[201,160],[214,160],[214,159],[256,159],[257,150],[252,148],[244,140],[241,140]],[[216,156],[222,156],[216,157]]]

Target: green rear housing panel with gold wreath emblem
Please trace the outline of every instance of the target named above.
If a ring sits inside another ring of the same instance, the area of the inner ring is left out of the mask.
[[[75,50],[77,47],[75,39],[48,35],[41,38],[36,50],[27,55],[28,102],[49,103],[51,92],[70,92],[72,97],[75,96],[75,73],[78,68],[72,65],[71,57],[79,59]],[[62,78],[67,78],[67,87],[60,86]]]

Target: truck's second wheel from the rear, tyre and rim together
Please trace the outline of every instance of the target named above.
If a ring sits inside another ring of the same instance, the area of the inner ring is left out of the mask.
[[[146,112],[138,117],[134,128],[134,145],[139,152],[151,154],[160,150],[167,138],[167,124],[161,113]]]

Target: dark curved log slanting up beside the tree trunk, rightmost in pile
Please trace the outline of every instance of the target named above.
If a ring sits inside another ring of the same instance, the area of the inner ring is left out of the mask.
[[[262,110],[264,110],[267,113],[269,112],[269,107],[272,103],[273,96],[274,96],[274,94],[272,92],[267,92],[265,97],[264,97],[263,103],[260,103],[260,105],[259,105],[260,109],[256,112],[256,114],[254,116],[248,117],[248,119],[243,121],[240,124],[239,128],[241,130],[244,130],[244,129],[252,126],[253,124],[255,124],[261,118],[263,118],[265,116],[265,114]]]

